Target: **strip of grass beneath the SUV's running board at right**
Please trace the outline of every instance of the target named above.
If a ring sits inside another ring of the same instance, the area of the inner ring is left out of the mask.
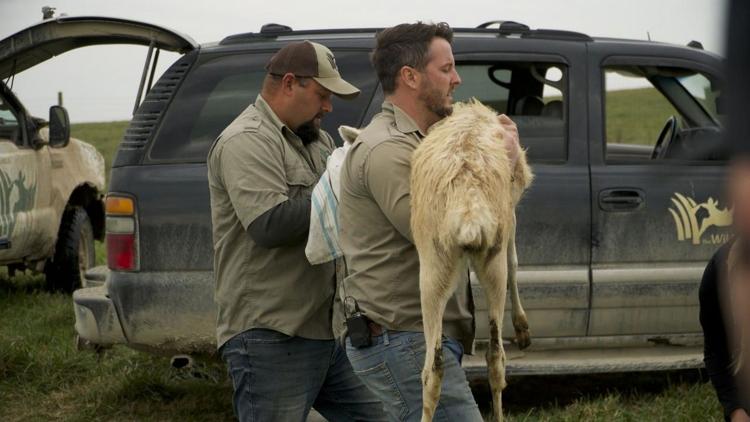
[[[511,421],[722,420],[716,394],[697,370],[516,378],[503,402]]]

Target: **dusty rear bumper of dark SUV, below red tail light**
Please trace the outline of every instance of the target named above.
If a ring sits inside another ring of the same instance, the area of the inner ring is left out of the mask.
[[[101,284],[97,286],[97,284]],[[162,355],[216,353],[211,272],[86,273],[73,304],[79,346],[124,344]]]

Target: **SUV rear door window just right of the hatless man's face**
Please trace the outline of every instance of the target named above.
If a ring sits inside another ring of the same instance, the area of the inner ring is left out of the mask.
[[[567,159],[567,70],[554,63],[459,63],[456,101],[475,97],[510,116],[531,162]]]

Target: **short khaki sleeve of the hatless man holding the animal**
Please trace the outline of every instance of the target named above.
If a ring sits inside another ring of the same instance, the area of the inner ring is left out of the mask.
[[[383,142],[370,151],[364,167],[365,184],[388,221],[410,242],[411,154],[414,147],[405,141]]]

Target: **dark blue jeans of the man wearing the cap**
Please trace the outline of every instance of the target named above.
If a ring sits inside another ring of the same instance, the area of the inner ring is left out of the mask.
[[[354,375],[334,340],[252,329],[222,346],[240,421],[305,421],[310,407],[329,421],[381,421],[383,404]]]

